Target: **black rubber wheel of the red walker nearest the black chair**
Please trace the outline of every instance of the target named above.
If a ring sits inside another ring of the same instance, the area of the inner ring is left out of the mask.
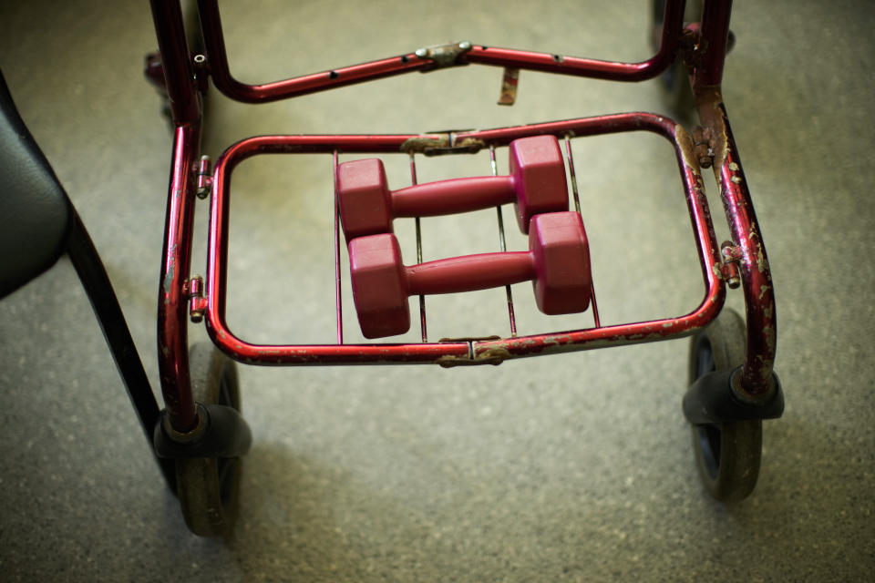
[[[240,411],[237,364],[211,343],[190,347],[194,400],[225,404]],[[200,537],[229,535],[237,517],[242,464],[239,457],[194,457],[176,460],[176,487],[182,517]]]

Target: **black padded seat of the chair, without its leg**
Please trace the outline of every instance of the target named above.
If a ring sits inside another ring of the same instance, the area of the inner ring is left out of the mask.
[[[0,298],[67,251],[72,207],[0,71]]]

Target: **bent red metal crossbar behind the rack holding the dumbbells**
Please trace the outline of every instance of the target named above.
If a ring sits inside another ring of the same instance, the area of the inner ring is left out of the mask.
[[[210,74],[219,90],[233,99],[246,103],[264,103],[287,97],[297,97],[372,81],[413,71],[436,68],[431,58],[420,58],[415,52],[391,56],[354,66],[344,66],[282,81],[248,85],[235,79],[228,65],[228,55],[222,34],[218,0],[200,0],[201,26],[204,42],[210,56]],[[669,0],[665,8],[662,44],[659,51],[641,63],[619,63],[577,56],[534,53],[509,48],[472,46],[458,56],[459,65],[469,63],[545,71],[561,75],[611,79],[614,81],[643,81],[660,75],[674,62],[684,24],[683,0]]]

